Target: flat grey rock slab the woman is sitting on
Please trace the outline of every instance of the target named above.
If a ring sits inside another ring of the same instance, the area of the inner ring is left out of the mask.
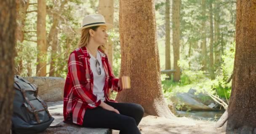
[[[51,126],[40,134],[112,134],[111,129],[85,128],[63,122],[63,101],[48,102],[48,110],[54,121]]]

